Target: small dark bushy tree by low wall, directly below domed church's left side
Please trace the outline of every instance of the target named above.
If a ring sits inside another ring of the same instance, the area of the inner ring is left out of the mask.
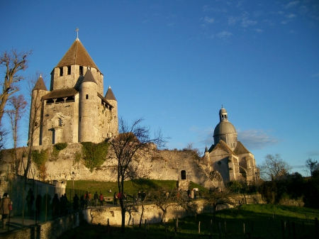
[[[218,189],[204,193],[206,204],[213,206],[213,216],[216,216],[216,209],[218,205],[230,204],[230,195],[232,192],[225,188],[221,191]]]

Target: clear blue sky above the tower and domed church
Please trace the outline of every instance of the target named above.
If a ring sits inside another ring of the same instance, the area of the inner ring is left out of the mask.
[[[76,28],[119,116],[161,128],[167,148],[210,146],[223,104],[257,164],[319,160],[317,0],[0,1],[1,52],[33,50],[24,74],[47,88]]]

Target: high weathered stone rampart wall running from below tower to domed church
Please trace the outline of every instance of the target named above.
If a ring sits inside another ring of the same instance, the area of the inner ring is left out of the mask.
[[[43,149],[43,146],[35,147],[35,150]],[[112,148],[108,150],[106,160],[101,167],[90,172],[84,166],[82,160],[76,162],[77,153],[82,152],[81,143],[68,144],[67,148],[60,151],[57,158],[52,157],[53,145],[45,147],[49,150],[49,160],[45,163],[47,169],[45,180],[65,181],[71,180],[72,172],[75,173],[74,180],[94,180],[115,182],[117,179],[117,160]],[[18,157],[22,157],[22,148],[18,149]],[[25,148],[25,151],[27,148]],[[25,154],[26,155],[26,154]],[[26,165],[26,157],[23,157]],[[9,150],[2,151],[0,165],[9,167],[13,164]],[[184,171],[186,180],[201,184],[203,187],[223,187],[223,181],[210,179],[209,172],[201,163],[201,158],[194,156],[190,150],[145,150],[138,152],[132,162],[132,167],[136,169],[137,177],[160,180],[181,180],[181,172]],[[10,171],[9,170],[9,171]],[[23,170],[21,170],[23,171]],[[31,174],[31,172],[35,172]],[[38,170],[35,165],[31,165],[28,177],[38,179]],[[43,180],[43,179],[42,179]]]

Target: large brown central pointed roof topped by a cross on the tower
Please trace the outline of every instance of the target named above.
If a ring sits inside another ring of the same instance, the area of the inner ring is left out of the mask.
[[[69,65],[81,65],[84,67],[94,67],[101,72],[95,65],[94,61],[90,57],[89,53],[85,50],[84,46],[80,42],[79,38],[74,41],[67,53],[62,57],[56,67],[65,67]]]

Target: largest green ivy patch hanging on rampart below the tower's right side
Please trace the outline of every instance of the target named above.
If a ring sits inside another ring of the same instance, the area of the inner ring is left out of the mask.
[[[94,168],[101,167],[106,160],[106,155],[108,155],[108,146],[110,143],[82,142],[81,144],[85,167],[90,169],[91,172]]]

